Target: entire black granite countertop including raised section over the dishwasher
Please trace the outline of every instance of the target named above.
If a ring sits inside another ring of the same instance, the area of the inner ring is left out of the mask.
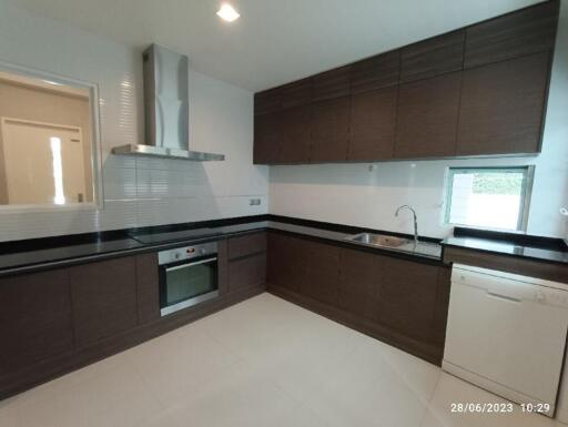
[[[444,240],[442,243],[436,238],[424,238],[425,242],[432,245],[440,244],[438,256],[437,251],[435,251],[435,255],[403,253],[389,248],[362,246],[346,241],[346,237],[363,232],[412,237],[408,235],[276,215],[258,215],[142,230],[114,231],[106,234],[93,233],[89,235],[0,243],[0,275],[26,273],[129,254],[166,250],[184,244],[226,238],[260,230],[298,234],[311,238],[331,241],[347,247],[357,247],[362,251],[378,252],[424,263],[440,264],[443,247],[454,246],[568,264],[568,247],[558,238],[456,227],[454,236]]]

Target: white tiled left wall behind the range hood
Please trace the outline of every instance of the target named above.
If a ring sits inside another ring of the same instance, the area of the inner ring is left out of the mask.
[[[110,150],[143,142],[141,52],[0,3],[0,60],[99,84],[104,192],[97,211],[0,211],[0,241],[267,212],[268,171],[252,164],[251,92],[191,72],[190,144],[226,161],[136,160]],[[262,204],[248,206],[250,196]]]

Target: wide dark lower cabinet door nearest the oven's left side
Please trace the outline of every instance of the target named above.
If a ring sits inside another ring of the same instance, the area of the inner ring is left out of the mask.
[[[79,347],[136,326],[135,257],[71,267],[69,278]]]

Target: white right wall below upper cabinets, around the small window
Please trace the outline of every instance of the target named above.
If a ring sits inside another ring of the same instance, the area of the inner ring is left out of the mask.
[[[445,173],[448,166],[536,165],[528,233],[565,237],[568,206],[568,0],[561,19],[548,100],[542,153],[525,159],[418,161],[271,167],[270,212],[394,232],[409,232],[402,204],[418,213],[420,234],[444,237]]]

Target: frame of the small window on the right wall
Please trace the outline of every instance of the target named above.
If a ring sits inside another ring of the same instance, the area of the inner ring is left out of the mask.
[[[450,222],[450,212],[452,212],[452,196],[454,190],[454,176],[456,174],[464,173],[477,173],[477,172],[515,172],[523,171],[524,180],[520,189],[520,205],[519,205],[519,215],[517,218],[517,227],[515,230],[511,228],[500,228],[500,227],[490,227],[490,226],[479,226],[479,225],[469,225],[469,224],[460,224]],[[446,191],[444,195],[444,224],[460,226],[466,228],[483,228],[483,230],[495,230],[495,231],[506,231],[509,233],[526,233],[528,226],[528,217],[530,211],[530,201],[532,196],[532,182],[535,177],[535,165],[514,165],[514,166],[457,166],[457,167],[448,167],[446,173]]]

